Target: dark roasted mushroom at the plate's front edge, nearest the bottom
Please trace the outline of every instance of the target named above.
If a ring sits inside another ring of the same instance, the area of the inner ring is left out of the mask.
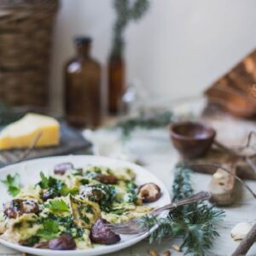
[[[62,235],[55,239],[52,239],[48,243],[48,247],[51,250],[74,250],[76,248],[76,243],[72,236]]]

